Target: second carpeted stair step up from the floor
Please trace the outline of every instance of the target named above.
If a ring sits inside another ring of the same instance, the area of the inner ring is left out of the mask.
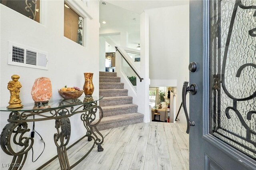
[[[136,113],[138,111],[138,105],[134,104],[103,106],[101,108],[103,110],[103,117]]]

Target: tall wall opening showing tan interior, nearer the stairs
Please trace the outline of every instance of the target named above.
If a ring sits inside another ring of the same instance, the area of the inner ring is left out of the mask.
[[[64,36],[83,45],[83,22],[84,18],[64,3]]]

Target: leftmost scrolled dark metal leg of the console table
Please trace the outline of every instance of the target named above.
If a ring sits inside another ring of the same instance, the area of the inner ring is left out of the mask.
[[[9,166],[9,170],[21,170],[24,166],[28,151],[34,144],[33,138],[23,136],[29,131],[27,123],[8,123],[3,128],[0,135],[1,148],[6,154],[13,156],[12,163],[6,164],[6,166]],[[12,135],[13,133],[14,135]],[[22,146],[20,151],[14,152],[11,146],[11,138],[13,138],[14,144]]]

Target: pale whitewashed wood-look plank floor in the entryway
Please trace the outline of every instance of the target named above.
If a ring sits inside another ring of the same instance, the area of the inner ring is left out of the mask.
[[[92,152],[74,170],[187,170],[189,169],[188,134],[179,123],[138,123],[100,131],[103,152]],[[74,164],[92,146],[87,138],[70,148],[68,158]],[[56,158],[45,170],[57,170]]]

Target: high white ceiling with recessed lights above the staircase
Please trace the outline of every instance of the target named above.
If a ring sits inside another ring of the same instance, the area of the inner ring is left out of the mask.
[[[100,34],[108,36],[116,45],[120,45],[120,32],[128,33],[129,45],[136,48],[140,43],[140,14],[144,10],[178,6],[186,4],[187,0],[106,0],[100,1]],[[105,21],[106,24],[102,24]],[[115,36],[113,36],[114,34]],[[118,34],[119,33],[119,34]],[[106,51],[108,50],[106,45]],[[114,48],[110,45],[110,51]]]

